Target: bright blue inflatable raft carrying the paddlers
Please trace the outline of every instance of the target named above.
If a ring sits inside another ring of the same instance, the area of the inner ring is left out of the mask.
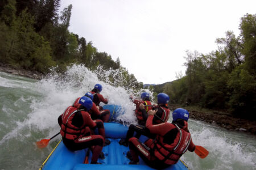
[[[106,105],[104,109],[108,108],[111,111],[111,116],[113,113],[121,111],[121,108],[117,105]],[[117,112],[116,112],[117,111]],[[111,117],[110,116],[110,117]],[[62,141],[57,143],[56,147],[53,149],[48,158],[43,162],[40,169],[61,169],[61,170],[82,170],[82,169],[152,169],[148,167],[142,159],[139,161],[139,165],[129,165],[130,160],[126,158],[126,153],[129,151],[129,147],[119,145],[119,141],[126,137],[127,126],[118,124],[115,122],[104,123],[105,136],[111,143],[108,146],[104,146],[102,152],[104,153],[105,159],[98,159],[101,164],[85,164],[85,162],[90,163],[92,158],[92,152],[86,148],[80,151],[69,151]],[[140,141],[146,140],[146,137],[142,135]],[[88,159],[88,161],[85,160]],[[171,165],[166,168],[170,170],[184,170],[188,169],[187,165],[181,160],[175,165]]]

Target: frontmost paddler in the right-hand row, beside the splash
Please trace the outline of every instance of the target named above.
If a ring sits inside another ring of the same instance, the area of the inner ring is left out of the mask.
[[[132,96],[130,96],[130,99],[136,105],[135,116],[137,117],[138,124],[139,125],[145,125],[147,120],[144,120],[144,117],[142,115],[141,109],[139,108],[139,105],[140,104],[146,105],[146,107],[144,108],[145,111],[146,112],[150,111],[152,109],[152,104],[151,104],[151,101],[150,101],[150,94],[148,94],[148,92],[143,92],[141,94],[141,99],[142,100],[133,99]]]

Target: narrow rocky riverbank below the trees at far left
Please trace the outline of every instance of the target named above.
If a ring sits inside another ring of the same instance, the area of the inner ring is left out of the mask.
[[[19,75],[19,76],[25,76],[25,77],[37,79],[37,80],[42,79],[44,76],[44,74],[39,73],[38,71],[20,69],[14,66],[3,64],[3,63],[0,63],[0,71],[14,74],[14,75]]]

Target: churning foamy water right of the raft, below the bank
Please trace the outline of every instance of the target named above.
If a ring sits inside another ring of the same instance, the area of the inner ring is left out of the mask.
[[[193,143],[205,147],[209,155],[200,159],[189,151],[183,159],[191,169],[251,169],[255,167],[255,137],[230,132],[204,122],[189,120]],[[203,125],[203,126],[202,126]],[[244,136],[241,137],[241,135]]]

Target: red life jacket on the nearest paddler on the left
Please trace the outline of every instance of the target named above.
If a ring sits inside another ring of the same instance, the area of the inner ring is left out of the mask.
[[[79,111],[77,108],[70,106],[62,114],[62,124],[60,129],[60,134],[62,137],[75,141],[77,138],[82,137],[86,133],[85,124],[83,124],[81,127],[77,127],[71,124],[72,118],[77,112],[82,111]]]

